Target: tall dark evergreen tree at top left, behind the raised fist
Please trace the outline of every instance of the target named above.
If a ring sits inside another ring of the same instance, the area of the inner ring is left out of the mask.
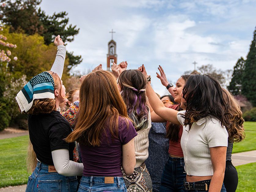
[[[54,37],[60,34],[64,42],[72,42],[79,33],[79,28],[68,25],[68,13],[62,11],[53,13],[52,16],[38,8],[41,0],[6,0],[5,6],[0,11],[0,20],[10,26],[10,32],[39,34],[44,37],[44,43],[49,45]],[[81,56],[67,53],[69,58],[68,70],[82,62]]]

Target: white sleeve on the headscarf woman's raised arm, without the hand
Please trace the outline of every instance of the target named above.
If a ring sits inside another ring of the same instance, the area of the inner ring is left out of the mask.
[[[58,45],[56,58],[51,68],[51,71],[53,71],[54,73],[57,73],[60,79],[63,73],[65,57],[66,57],[66,47],[64,45]]]

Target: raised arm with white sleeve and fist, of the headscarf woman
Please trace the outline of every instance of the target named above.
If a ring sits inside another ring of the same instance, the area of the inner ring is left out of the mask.
[[[56,58],[53,63],[53,66],[51,68],[51,71],[53,71],[54,73],[57,73],[61,79],[63,68],[64,68],[65,57],[66,57],[66,47],[64,46],[64,43],[60,38],[60,35],[55,37],[54,45],[57,46],[57,54],[56,54]]]

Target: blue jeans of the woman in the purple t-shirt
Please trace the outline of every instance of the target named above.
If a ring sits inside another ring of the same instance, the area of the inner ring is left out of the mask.
[[[123,177],[113,177],[113,178],[114,178],[114,183],[105,183],[105,177],[83,176],[77,192],[82,192],[82,191],[126,192],[127,189],[126,189]]]

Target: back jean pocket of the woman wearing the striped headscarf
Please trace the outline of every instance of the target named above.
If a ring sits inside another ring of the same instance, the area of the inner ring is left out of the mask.
[[[38,192],[61,192],[61,180],[38,181]]]

